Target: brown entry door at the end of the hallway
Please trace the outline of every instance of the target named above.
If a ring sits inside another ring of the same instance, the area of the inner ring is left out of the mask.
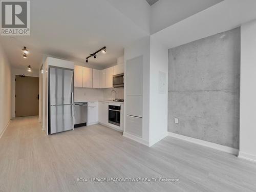
[[[39,113],[39,78],[16,75],[15,117]]]

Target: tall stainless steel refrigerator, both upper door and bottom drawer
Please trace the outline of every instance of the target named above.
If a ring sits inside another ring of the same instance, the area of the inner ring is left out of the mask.
[[[49,67],[49,134],[74,129],[74,71]]]

